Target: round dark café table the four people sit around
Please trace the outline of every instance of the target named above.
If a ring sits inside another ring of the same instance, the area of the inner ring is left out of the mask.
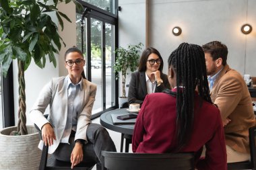
[[[129,144],[131,144],[131,138],[133,135],[134,124],[113,124],[111,114],[120,114],[127,113],[127,108],[110,110],[105,112],[100,116],[100,124],[109,130],[121,133],[121,149],[120,152],[123,152],[123,142],[125,139],[125,153],[129,152]]]

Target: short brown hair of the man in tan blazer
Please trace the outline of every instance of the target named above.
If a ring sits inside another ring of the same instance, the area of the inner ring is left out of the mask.
[[[225,44],[222,44],[219,41],[212,41],[204,44],[202,46],[203,52],[208,52],[212,55],[213,60],[222,58],[222,65],[226,65],[226,60],[228,56],[228,48]]]

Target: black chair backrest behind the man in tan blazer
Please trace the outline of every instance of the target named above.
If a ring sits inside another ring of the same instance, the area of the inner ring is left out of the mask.
[[[250,152],[251,152],[251,164],[253,168],[256,168],[256,126],[249,128],[249,142],[250,142]]]

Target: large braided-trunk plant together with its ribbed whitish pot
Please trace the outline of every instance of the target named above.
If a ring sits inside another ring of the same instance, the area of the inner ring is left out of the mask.
[[[33,126],[26,126],[26,94],[24,71],[34,59],[44,68],[46,58],[56,67],[55,54],[61,49],[62,39],[51,16],[56,15],[63,30],[63,18],[71,20],[58,10],[58,3],[75,0],[0,0],[0,63],[5,77],[12,60],[18,60],[19,109],[18,126],[0,131],[0,169],[38,169],[39,138]],[[65,45],[65,43],[63,42]],[[17,135],[17,136],[11,136]],[[21,165],[22,163],[22,165]]]

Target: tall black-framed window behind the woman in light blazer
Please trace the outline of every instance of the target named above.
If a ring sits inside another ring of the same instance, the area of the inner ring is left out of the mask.
[[[102,8],[81,3],[90,10],[83,21],[82,13],[77,13],[77,47],[86,56],[86,78],[97,85],[96,101],[92,109],[94,118],[117,105],[117,81],[113,70],[113,51],[117,46],[117,16],[102,11]]]

